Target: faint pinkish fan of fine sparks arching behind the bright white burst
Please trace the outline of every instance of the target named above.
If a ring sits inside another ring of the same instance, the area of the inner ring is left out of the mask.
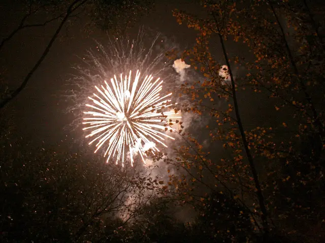
[[[92,87],[100,86],[105,79],[139,69],[143,76],[164,77],[164,90],[168,93],[175,90],[179,79],[172,67],[173,61],[166,57],[166,52],[177,49],[177,46],[160,33],[141,27],[136,36],[108,36],[104,43],[94,41],[94,45],[82,53],[80,62],[72,67],[74,70],[62,94],[69,102],[66,112],[73,116],[66,129],[69,133],[77,132],[75,137],[79,137],[78,128],[84,117],[87,97],[92,96]],[[75,142],[76,145],[82,144],[80,139]]]

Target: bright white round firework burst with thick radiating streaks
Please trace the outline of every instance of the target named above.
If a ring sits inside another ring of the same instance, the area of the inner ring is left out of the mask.
[[[165,138],[174,139],[165,133],[174,130],[168,128],[171,118],[181,118],[171,109],[168,98],[172,93],[160,97],[163,81],[153,81],[153,76],[147,75],[141,82],[140,77],[139,70],[134,80],[131,71],[124,78],[122,74],[120,78],[114,75],[110,83],[104,81],[105,86],[95,86],[98,93],[93,94],[94,98],[88,97],[93,104],[86,104],[91,111],[84,112],[84,130],[91,131],[86,138],[93,138],[89,144],[96,143],[95,152],[104,148],[107,162],[114,158],[116,164],[121,161],[123,165],[129,155],[133,165],[133,156],[140,154],[145,163],[146,151],[155,154],[159,151],[156,144],[167,147]],[[169,110],[162,112],[166,108]]]

